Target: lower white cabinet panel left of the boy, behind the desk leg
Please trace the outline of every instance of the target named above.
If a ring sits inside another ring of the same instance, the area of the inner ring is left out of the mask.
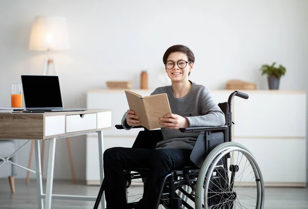
[[[104,132],[105,133],[105,132]],[[104,150],[110,147],[131,147],[135,137],[104,137]],[[100,184],[99,141],[97,135],[88,135],[86,139],[86,182],[88,185]]]

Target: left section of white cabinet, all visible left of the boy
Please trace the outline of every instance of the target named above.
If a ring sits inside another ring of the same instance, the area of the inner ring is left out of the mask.
[[[147,96],[150,90],[132,90],[141,96]],[[121,119],[128,109],[124,90],[89,90],[87,93],[87,108],[102,108],[112,110],[111,129],[104,130],[104,150],[110,147],[131,147],[140,129],[117,129],[114,126],[121,124]],[[88,185],[100,184],[98,136],[92,134],[87,136],[86,142],[86,183]],[[103,150],[103,151],[104,151]]]

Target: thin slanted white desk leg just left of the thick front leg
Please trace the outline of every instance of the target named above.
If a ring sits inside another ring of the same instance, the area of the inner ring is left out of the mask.
[[[42,182],[42,167],[41,167],[41,150],[40,140],[32,140],[35,146],[35,172],[37,182],[37,197],[38,197],[38,209],[44,209],[43,199],[43,182]]]

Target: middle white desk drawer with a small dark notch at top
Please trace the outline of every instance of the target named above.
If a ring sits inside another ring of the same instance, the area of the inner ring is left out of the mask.
[[[66,132],[97,128],[97,113],[66,116]]]

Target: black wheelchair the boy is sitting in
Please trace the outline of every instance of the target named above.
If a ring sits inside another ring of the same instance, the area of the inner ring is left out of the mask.
[[[232,99],[234,96],[241,97],[243,99],[248,99],[248,94],[234,91],[230,94],[228,98],[228,102],[219,103],[218,105],[222,109],[225,114],[226,123],[224,126],[215,126],[215,127],[188,127],[188,128],[180,128],[181,132],[188,132],[188,131],[201,131],[199,134],[197,141],[195,143],[194,149],[190,155],[190,159],[192,162],[196,164],[196,167],[184,167],[182,170],[171,170],[169,174],[164,177],[164,181],[162,185],[160,185],[161,189],[161,197],[160,201],[157,203],[156,208],[158,208],[159,204],[162,204],[165,208],[169,209],[180,209],[186,207],[187,209],[194,209],[194,207],[190,206],[186,201],[187,198],[191,201],[195,202],[196,208],[209,208],[209,209],[219,209],[219,208],[228,208],[232,209],[232,205],[224,206],[217,204],[217,198],[210,197],[207,201],[204,201],[202,204],[202,200],[200,199],[200,194],[202,193],[202,188],[208,188],[210,184],[210,178],[207,178],[207,173],[213,173],[216,169],[216,172],[221,172],[221,170],[212,166],[213,161],[217,165],[227,165],[227,158],[229,158],[229,151],[230,150],[239,150],[243,153],[248,159],[249,162],[252,164],[254,169],[254,174],[256,177],[257,182],[257,205],[256,209],[262,209],[264,205],[264,185],[263,185],[263,178],[261,175],[260,168],[254,159],[251,152],[241,144],[232,142]],[[117,129],[123,129],[122,125],[115,125]],[[144,128],[142,126],[137,126],[133,128]],[[213,137],[215,136],[215,137]],[[218,137],[217,137],[218,136]],[[221,137],[222,136],[222,137]],[[144,137],[147,137],[146,143]],[[148,139],[150,138],[150,139]],[[212,138],[215,138],[212,139]],[[143,131],[140,131],[136,141],[134,142],[132,147],[139,147],[139,148],[155,148],[156,143],[162,139],[161,130],[148,130],[144,128]],[[197,146],[196,146],[197,144]],[[234,166],[234,165],[233,165]],[[227,198],[233,200],[236,198],[236,192],[233,191],[233,184],[234,184],[234,176],[237,172],[237,165],[234,167],[230,166],[231,174],[231,185],[230,191],[226,193]],[[209,171],[208,171],[209,169]],[[131,174],[130,171],[126,171],[124,173],[124,177],[127,181],[126,189],[130,186],[132,179],[140,179],[146,178],[147,176],[147,169],[133,169],[131,170],[133,173]],[[223,170],[223,172],[225,172]],[[195,176],[198,176],[196,179]],[[181,177],[181,179],[179,179]],[[204,181],[198,181],[198,179],[205,179]],[[205,183],[205,184],[204,184]],[[225,182],[226,183],[226,182]],[[192,188],[192,192],[189,194],[183,186],[189,186]],[[164,189],[165,188],[165,189]],[[167,189],[167,190],[166,190]],[[176,191],[182,193],[184,198],[181,198]],[[100,187],[100,191],[97,197],[97,200],[94,204],[94,209],[98,208],[101,197],[104,192],[104,181]],[[127,191],[126,191],[127,192]],[[196,192],[195,197],[192,193]],[[208,193],[205,192],[205,197],[208,197]],[[130,208],[134,208],[134,205],[137,202],[129,203]],[[211,205],[218,205],[218,206],[210,206]]]

